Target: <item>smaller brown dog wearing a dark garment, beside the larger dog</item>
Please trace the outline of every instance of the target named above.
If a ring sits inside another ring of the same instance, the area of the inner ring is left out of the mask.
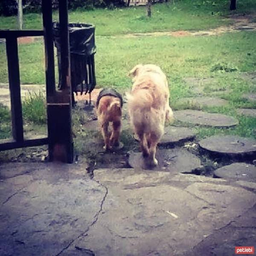
[[[113,89],[103,89],[96,102],[96,113],[102,136],[104,139],[104,149],[107,151],[113,146],[119,146],[119,136],[121,132],[122,120],[122,96]],[[112,129],[108,131],[108,126],[112,122]]]

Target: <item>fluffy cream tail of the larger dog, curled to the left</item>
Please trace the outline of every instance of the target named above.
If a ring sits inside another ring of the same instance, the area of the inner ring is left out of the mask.
[[[133,95],[126,93],[126,98],[128,105],[133,110],[137,108],[150,110],[154,101],[151,93],[146,89],[135,91]]]

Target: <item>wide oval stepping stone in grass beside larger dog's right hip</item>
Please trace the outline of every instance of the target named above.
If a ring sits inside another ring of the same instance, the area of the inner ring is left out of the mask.
[[[174,116],[175,119],[180,122],[213,127],[232,127],[239,123],[238,120],[232,116],[190,109],[175,111]]]

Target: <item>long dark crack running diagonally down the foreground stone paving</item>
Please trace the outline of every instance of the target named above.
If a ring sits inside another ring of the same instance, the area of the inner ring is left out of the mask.
[[[70,243],[68,243],[67,244],[67,246],[65,246],[58,254],[56,254],[55,256],[58,256],[58,255],[61,255],[61,253],[63,253],[65,250],[67,250],[69,247],[70,247],[70,245],[72,245],[73,243],[74,243],[74,241],[76,241],[77,239],[79,239],[80,237],[82,237],[82,236],[85,236],[85,234],[90,230],[90,228],[98,221],[98,219],[99,219],[99,215],[100,215],[100,213],[102,212],[102,207],[103,207],[103,204],[104,204],[104,202],[105,202],[105,199],[106,199],[106,197],[107,197],[107,195],[108,195],[108,188],[106,187],[106,186],[104,186],[102,183],[100,183],[98,180],[95,180],[100,186],[102,186],[103,188],[105,188],[105,190],[106,190],[106,192],[105,192],[105,195],[103,196],[103,198],[102,198],[102,201],[101,201],[101,204],[100,204],[100,207],[99,207],[99,211],[98,212],[96,212],[96,214],[94,215],[94,221],[90,224],[90,226],[89,227],[87,227],[87,229],[83,232],[83,233],[81,233],[79,236],[77,236],[75,239],[73,239],[73,240],[71,240],[70,241]],[[80,248],[80,247],[75,247],[76,248],[76,250],[79,250],[78,248]],[[88,249],[83,249],[83,248],[81,248],[83,251],[84,250],[86,250],[87,252],[90,252],[90,255],[91,256],[95,256],[95,254],[93,253],[93,251],[92,250],[88,250]]]

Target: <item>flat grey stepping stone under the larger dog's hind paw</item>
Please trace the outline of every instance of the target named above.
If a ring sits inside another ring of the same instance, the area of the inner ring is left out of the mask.
[[[158,165],[152,168],[147,166],[141,152],[131,152],[128,164],[136,169],[154,169],[175,173],[190,173],[195,169],[201,168],[200,159],[182,148],[158,149],[156,158]]]

